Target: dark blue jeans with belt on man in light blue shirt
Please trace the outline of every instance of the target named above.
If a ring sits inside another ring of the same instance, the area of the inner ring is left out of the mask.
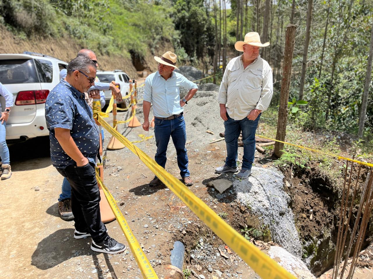
[[[166,166],[166,151],[167,145],[172,138],[173,145],[176,148],[176,155],[178,159],[178,166],[180,169],[180,175],[182,178],[190,176],[188,170],[188,154],[186,154],[185,142],[186,142],[186,131],[184,116],[176,117],[172,120],[154,120],[154,134],[156,136],[157,153],[154,156],[157,164],[161,167]]]

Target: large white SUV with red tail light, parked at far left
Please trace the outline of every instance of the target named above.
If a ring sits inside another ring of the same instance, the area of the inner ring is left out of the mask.
[[[6,125],[6,140],[48,135],[44,103],[59,83],[68,63],[35,52],[0,54],[0,82],[13,94],[14,106]],[[1,100],[3,99],[3,100]],[[0,98],[5,108],[4,98]]]

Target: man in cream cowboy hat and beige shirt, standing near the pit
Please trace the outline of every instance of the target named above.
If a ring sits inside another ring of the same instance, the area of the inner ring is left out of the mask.
[[[244,156],[241,171],[236,175],[246,179],[251,174],[254,162],[255,132],[261,112],[266,110],[272,99],[272,69],[259,55],[261,44],[257,32],[245,35],[245,40],[235,43],[243,54],[233,58],[227,65],[220,84],[218,101],[220,116],[224,120],[227,157],[217,173],[237,172],[238,137],[242,132]]]

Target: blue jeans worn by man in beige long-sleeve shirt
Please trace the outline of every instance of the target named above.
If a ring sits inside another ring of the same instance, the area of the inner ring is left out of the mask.
[[[228,120],[224,121],[225,143],[227,146],[227,157],[225,159],[226,166],[232,168],[237,167],[237,140],[242,131],[242,142],[244,143],[242,169],[251,170],[251,165],[254,163],[255,132],[258,127],[260,115],[261,113],[259,113],[255,120],[249,120],[247,117],[242,120],[234,120],[233,118],[230,118],[227,113]]]

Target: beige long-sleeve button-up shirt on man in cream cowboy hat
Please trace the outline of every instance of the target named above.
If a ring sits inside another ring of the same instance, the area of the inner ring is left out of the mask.
[[[273,95],[272,69],[260,56],[244,69],[242,55],[229,61],[218,102],[225,104],[229,117],[241,120],[252,109],[266,110]]]

